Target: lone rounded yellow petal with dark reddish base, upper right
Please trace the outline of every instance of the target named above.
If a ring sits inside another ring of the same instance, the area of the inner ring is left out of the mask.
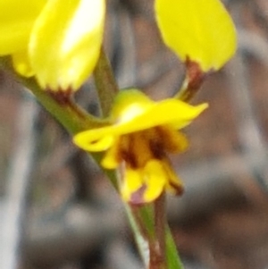
[[[183,62],[216,71],[234,55],[236,30],[220,0],[155,0],[155,13],[163,41]]]

